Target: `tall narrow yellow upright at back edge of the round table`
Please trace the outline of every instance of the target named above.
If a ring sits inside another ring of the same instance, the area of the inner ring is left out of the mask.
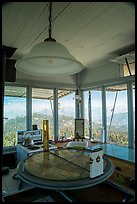
[[[49,121],[43,120],[43,148],[49,151]]]

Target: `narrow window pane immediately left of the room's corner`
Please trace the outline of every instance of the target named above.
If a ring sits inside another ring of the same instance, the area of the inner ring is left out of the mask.
[[[64,95],[64,96],[63,96]],[[73,138],[75,128],[75,93],[58,91],[59,139]]]

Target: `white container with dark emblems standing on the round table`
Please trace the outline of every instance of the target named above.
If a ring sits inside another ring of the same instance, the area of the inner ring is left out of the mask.
[[[90,178],[103,174],[103,150],[98,148],[90,153]]]

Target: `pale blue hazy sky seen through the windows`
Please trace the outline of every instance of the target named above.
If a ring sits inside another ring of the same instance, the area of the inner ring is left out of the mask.
[[[117,95],[117,101],[115,106],[115,113],[127,112],[127,92],[120,91]],[[114,106],[115,92],[106,93],[106,104],[107,111],[110,112]],[[135,94],[133,94],[135,101]],[[94,114],[101,114],[101,92],[93,91],[91,94],[92,111]],[[53,101],[52,101],[53,102]],[[59,99],[59,114],[67,114],[74,116],[75,111],[75,99],[74,93]],[[33,112],[41,112],[43,109],[53,108],[49,100],[37,100],[33,99]],[[84,93],[84,104],[85,113],[88,115],[88,91]],[[134,102],[135,106],[135,102]],[[9,119],[15,118],[16,116],[26,115],[26,99],[16,97],[5,97],[4,98],[4,117]]]

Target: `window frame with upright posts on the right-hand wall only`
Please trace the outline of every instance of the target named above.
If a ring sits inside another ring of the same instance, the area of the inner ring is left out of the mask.
[[[128,147],[129,148],[135,148],[134,144],[134,126],[133,126],[133,93],[132,93],[132,84],[135,83],[135,76],[127,76],[124,78],[121,78],[117,81],[107,81],[104,84],[93,84],[93,85],[88,85],[88,88],[82,88],[82,91],[92,91],[95,89],[102,89],[102,127],[104,129],[104,141],[103,143],[107,143],[107,113],[106,113],[106,88],[109,86],[117,86],[117,85],[127,85],[127,111],[128,111]],[[83,110],[84,110],[84,103],[83,103]]]

